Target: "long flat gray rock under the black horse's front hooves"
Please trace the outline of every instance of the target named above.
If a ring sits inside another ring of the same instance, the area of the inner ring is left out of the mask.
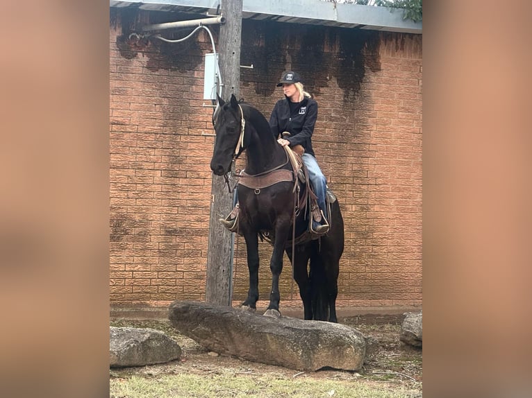
[[[179,333],[220,354],[295,370],[360,370],[366,340],[331,322],[269,318],[202,302],[173,302],[169,319]]]

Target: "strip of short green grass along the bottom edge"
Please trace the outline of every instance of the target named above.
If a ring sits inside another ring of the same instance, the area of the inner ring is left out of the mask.
[[[110,379],[111,398],[410,398],[417,390],[379,386],[353,380],[316,380],[241,376],[237,374],[175,374]]]

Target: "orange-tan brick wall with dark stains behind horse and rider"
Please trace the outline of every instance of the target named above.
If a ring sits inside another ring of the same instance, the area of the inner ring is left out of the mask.
[[[205,298],[213,130],[202,97],[210,39],[203,30],[180,44],[129,38],[141,24],[178,19],[190,17],[111,9],[113,306]],[[420,306],[421,37],[244,20],[241,58],[253,69],[242,69],[240,96],[267,118],[285,69],[300,71],[319,103],[313,146],[345,223],[338,305]],[[271,284],[270,252],[261,244],[260,300]],[[238,236],[233,275],[239,302],[248,276]],[[280,284],[281,305],[297,305],[286,257]]]

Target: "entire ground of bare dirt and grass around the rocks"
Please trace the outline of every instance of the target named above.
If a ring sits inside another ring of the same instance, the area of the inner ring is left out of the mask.
[[[208,356],[208,349],[178,334],[169,320],[111,320],[111,326],[165,332],[181,346],[183,358],[176,363],[110,369],[110,398],[421,397],[422,351],[399,341],[400,320],[373,316],[340,321],[375,338],[379,349],[360,372],[326,369],[306,374],[231,356]]]

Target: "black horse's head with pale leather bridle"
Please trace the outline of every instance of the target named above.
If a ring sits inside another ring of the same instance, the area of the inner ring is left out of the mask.
[[[219,107],[214,115],[216,142],[210,169],[216,175],[224,175],[231,168],[231,162],[242,152],[242,108],[238,105],[235,94],[225,103],[218,97]]]

